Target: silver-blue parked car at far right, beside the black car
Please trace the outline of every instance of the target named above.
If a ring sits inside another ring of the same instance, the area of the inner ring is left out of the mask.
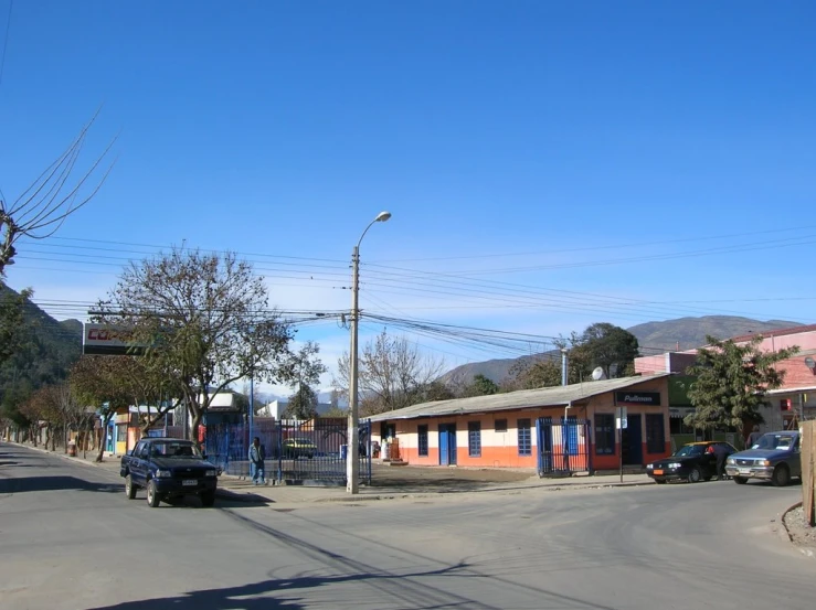
[[[798,431],[762,435],[751,449],[728,459],[725,472],[740,485],[748,483],[749,479],[763,479],[784,486],[793,477],[802,478]]]

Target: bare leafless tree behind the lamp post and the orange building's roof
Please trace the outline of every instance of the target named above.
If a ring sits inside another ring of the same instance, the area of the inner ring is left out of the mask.
[[[360,415],[369,416],[411,406],[445,370],[443,360],[420,353],[404,336],[391,338],[383,330],[369,341],[358,361]],[[348,395],[349,354],[338,361],[333,385]]]

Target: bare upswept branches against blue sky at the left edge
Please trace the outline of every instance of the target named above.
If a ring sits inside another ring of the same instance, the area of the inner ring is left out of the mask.
[[[21,237],[45,239],[56,233],[71,214],[89,202],[105,183],[112,162],[106,169],[103,161],[108,157],[116,138],[99,154],[91,168],[72,183],[72,175],[85,146],[88,130],[98,111],[82,128],[80,135],[12,203],[0,196],[0,276],[6,266],[14,264],[14,244]],[[95,180],[102,173],[98,180]]]

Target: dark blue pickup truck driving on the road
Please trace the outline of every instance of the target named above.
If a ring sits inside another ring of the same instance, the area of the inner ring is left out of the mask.
[[[203,506],[215,503],[218,469],[190,440],[141,439],[133,451],[121,457],[119,474],[125,478],[128,499],[136,497],[136,490],[144,488],[151,507],[184,495],[198,495]]]

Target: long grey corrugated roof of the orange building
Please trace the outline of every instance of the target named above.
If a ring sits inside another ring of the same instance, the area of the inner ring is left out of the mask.
[[[489,396],[473,396],[470,398],[454,398],[452,400],[435,400],[412,405],[393,411],[371,416],[371,421],[386,419],[415,419],[417,417],[439,417],[471,413],[488,413],[534,407],[564,407],[571,402],[582,400],[606,392],[623,389],[637,384],[668,377],[671,373],[621,377],[617,379],[602,379],[568,386],[542,387],[538,389],[519,389],[507,394],[491,394]]]

